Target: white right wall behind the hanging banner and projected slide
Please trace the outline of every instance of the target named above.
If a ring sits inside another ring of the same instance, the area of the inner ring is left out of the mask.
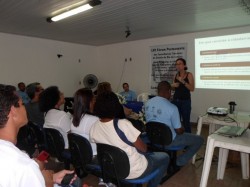
[[[98,63],[99,65],[105,64],[105,67],[103,67],[104,71],[100,72],[100,76],[102,79],[110,81],[115,91],[117,91],[117,88],[121,90],[121,85],[118,84],[124,59],[131,57],[132,61],[125,63],[124,75],[121,82],[128,82],[130,88],[137,93],[148,92],[150,81],[150,46],[187,43],[187,65],[189,71],[195,74],[195,38],[247,32],[250,32],[250,27],[174,35],[102,46],[98,48]],[[228,107],[229,101],[237,103],[236,110],[250,111],[250,91],[196,89],[192,93],[191,120],[195,122],[197,117],[204,114],[210,106]]]

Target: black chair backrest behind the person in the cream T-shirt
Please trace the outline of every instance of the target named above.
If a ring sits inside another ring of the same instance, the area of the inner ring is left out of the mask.
[[[97,143],[97,157],[102,168],[104,181],[107,179],[125,179],[130,172],[130,163],[126,152],[118,147]]]

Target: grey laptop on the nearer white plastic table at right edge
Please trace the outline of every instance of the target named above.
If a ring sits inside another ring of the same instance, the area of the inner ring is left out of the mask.
[[[223,126],[219,128],[215,133],[223,136],[241,136],[248,129],[248,127],[239,127],[239,126]]]

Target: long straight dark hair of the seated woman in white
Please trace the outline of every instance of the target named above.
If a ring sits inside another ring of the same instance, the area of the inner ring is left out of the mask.
[[[90,113],[90,103],[94,95],[92,90],[81,88],[74,95],[73,120],[72,123],[78,127],[81,119],[86,113]]]

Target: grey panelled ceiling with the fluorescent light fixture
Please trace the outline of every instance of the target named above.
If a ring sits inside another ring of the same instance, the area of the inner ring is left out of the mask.
[[[0,32],[100,46],[250,25],[250,0],[101,1],[87,12],[48,23],[47,17],[82,0],[0,0]]]

